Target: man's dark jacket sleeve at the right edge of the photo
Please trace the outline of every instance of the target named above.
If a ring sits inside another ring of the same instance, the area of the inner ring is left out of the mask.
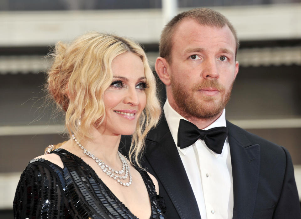
[[[283,150],[286,154],[286,169],[281,195],[274,211],[273,218],[300,219],[300,202],[294,177],[293,163],[287,149],[283,148]]]

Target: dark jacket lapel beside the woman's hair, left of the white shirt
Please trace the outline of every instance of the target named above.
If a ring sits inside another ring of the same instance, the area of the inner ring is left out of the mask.
[[[166,121],[163,121],[154,133],[163,134],[160,137],[156,136],[158,141],[147,140],[145,158],[167,191],[180,217],[201,218],[193,190]]]

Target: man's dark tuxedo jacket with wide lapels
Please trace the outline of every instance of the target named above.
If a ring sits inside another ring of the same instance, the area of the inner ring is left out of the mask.
[[[233,219],[299,219],[300,203],[288,151],[227,121],[233,175]],[[120,149],[131,139],[122,136]],[[142,166],[156,177],[166,218],[201,218],[165,117],[148,134]],[[197,168],[196,168],[197,171]],[[225,203],[226,205],[227,203]]]

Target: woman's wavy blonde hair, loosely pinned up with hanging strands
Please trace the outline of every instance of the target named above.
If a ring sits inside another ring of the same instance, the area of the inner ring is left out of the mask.
[[[47,75],[46,89],[57,107],[66,112],[69,136],[92,139],[90,127],[98,128],[105,119],[104,91],[113,80],[112,61],[123,53],[138,55],[144,65],[146,81],[146,106],[132,134],[129,160],[140,166],[144,139],[156,126],[161,107],[156,94],[156,80],[141,46],[132,40],[113,34],[91,32],[70,44],[58,42],[51,56],[54,62]],[[80,120],[80,124],[79,124]]]

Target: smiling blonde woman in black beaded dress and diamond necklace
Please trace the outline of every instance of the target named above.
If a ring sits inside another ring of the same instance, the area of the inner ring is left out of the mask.
[[[144,138],[160,117],[143,49],[89,33],[56,44],[47,89],[66,111],[70,139],[30,161],[13,202],[15,218],[163,218],[158,183],[141,169]],[[118,146],[132,135],[129,160]]]

